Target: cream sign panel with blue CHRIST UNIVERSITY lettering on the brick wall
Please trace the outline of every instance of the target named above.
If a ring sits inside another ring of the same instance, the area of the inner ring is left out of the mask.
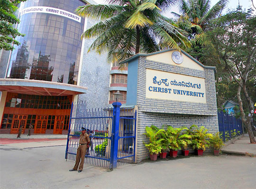
[[[146,69],[146,98],[206,103],[205,79]]]

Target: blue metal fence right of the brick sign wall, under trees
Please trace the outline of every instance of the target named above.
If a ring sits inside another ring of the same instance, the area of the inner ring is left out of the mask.
[[[219,133],[224,142],[243,134],[242,120],[224,112],[218,112]]]

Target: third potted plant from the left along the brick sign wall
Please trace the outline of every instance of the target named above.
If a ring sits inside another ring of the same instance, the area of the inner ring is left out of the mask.
[[[177,157],[178,150],[181,149],[181,138],[180,133],[184,128],[174,128],[172,126],[167,126],[167,137],[170,148],[170,156]]]

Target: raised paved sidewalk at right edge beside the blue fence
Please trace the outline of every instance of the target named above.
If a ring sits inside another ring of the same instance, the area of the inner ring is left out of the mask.
[[[249,136],[248,134],[245,134],[239,137],[238,140],[224,146],[221,151],[223,153],[233,155],[248,155],[256,157],[256,144],[250,144]]]

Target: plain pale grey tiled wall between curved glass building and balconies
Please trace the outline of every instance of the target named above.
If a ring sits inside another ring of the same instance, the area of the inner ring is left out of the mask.
[[[88,19],[87,28],[94,24],[96,21]],[[85,101],[88,109],[107,107],[109,100],[111,65],[107,63],[107,55],[88,52],[94,40],[86,39],[84,43],[80,86],[88,87],[88,91],[78,96],[78,101]]]

